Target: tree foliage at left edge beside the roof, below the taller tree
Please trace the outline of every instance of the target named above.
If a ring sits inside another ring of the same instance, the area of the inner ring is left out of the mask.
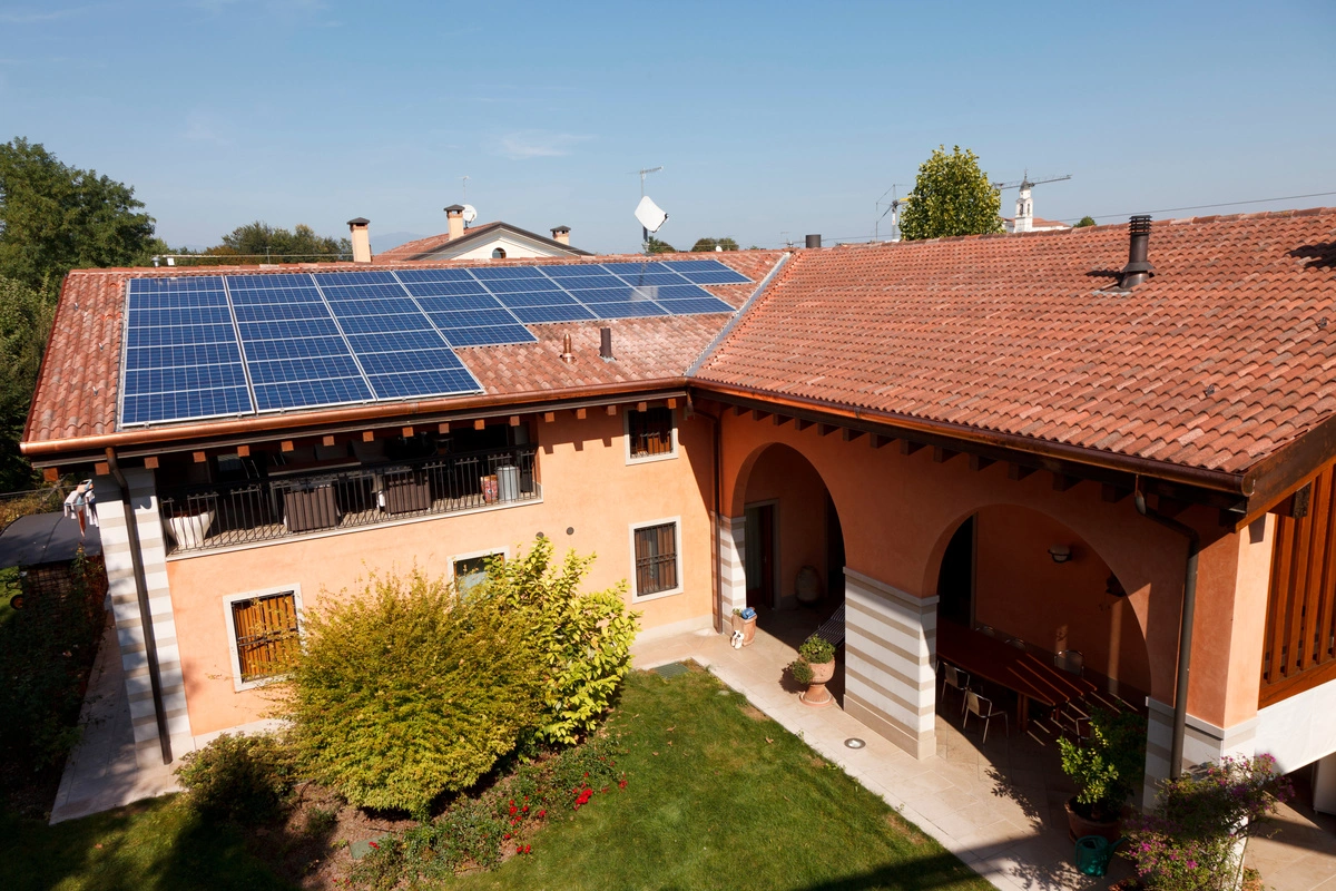
[[[32,466],[19,454],[55,305],[39,290],[0,277],[0,492],[28,489]]]

